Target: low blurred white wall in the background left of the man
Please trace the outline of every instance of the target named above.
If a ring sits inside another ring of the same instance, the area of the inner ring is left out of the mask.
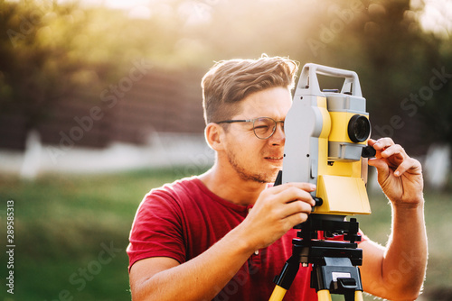
[[[24,152],[0,149],[0,172],[34,178],[49,172],[105,173],[186,166],[196,173],[212,165],[213,158],[202,134],[154,132],[144,146],[115,142],[106,149],[91,149],[42,145],[39,134],[31,132]]]

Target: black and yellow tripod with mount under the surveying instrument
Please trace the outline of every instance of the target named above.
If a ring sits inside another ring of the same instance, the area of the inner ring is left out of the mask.
[[[319,301],[331,301],[331,294],[344,295],[345,301],[362,301],[363,286],[357,266],[363,264],[363,250],[357,248],[361,236],[356,219],[347,222],[344,215],[311,214],[296,228],[300,231],[292,241],[292,256],[275,277],[276,287],[269,300],[282,300],[297,276],[300,263],[303,267],[312,263],[311,287]],[[325,237],[344,233],[346,242],[317,240],[317,231],[324,231]]]

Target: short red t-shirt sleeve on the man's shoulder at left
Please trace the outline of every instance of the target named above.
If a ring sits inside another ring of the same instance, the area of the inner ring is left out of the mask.
[[[138,207],[127,247],[128,269],[138,260],[169,257],[183,263],[185,245],[181,210],[165,190],[153,190]]]

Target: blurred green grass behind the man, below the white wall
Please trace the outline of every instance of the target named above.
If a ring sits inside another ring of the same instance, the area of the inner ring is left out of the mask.
[[[12,199],[15,243],[14,295],[2,287],[0,301],[130,300],[126,248],[137,206],[152,187],[182,174],[184,169],[142,170],[49,175],[33,182],[0,176],[0,237],[5,242],[6,201]],[[384,244],[391,231],[391,207],[380,194],[371,196],[371,205],[372,214],[360,216],[359,222],[372,240]],[[452,283],[449,212],[449,194],[426,193],[428,300],[441,300],[438,292],[450,291]],[[2,266],[7,262],[5,251],[0,262]],[[0,269],[1,278],[6,272]]]

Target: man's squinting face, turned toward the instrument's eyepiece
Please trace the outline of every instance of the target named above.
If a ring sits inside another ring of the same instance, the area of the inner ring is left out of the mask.
[[[270,117],[277,122],[284,121],[290,105],[292,97],[287,88],[268,88],[243,99],[240,113],[231,119]],[[283,123],[278,123],[276,131],[266,140],[256,137],[252,123],[231,123],[226,141],[225,153],[240,178],[259,183],[275,181],[284,156]]]

